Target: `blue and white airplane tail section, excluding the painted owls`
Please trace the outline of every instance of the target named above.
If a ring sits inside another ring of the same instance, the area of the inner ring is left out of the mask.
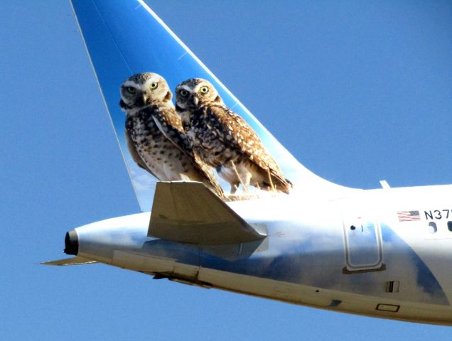
[[[72,7],[144,212],[70,230],[65,253],[75,257],[44,264],[102,263],[326,310],[452,325],[452,185],[330,183],[298,163],[143,1],[72,0]],[[242,187],[225,200],[203,183],[157,181],[142,170],[118,105],[119,86],[140,72],[162,75],[173,90],[193,77],[212,83],[254,129],[291,192]]]

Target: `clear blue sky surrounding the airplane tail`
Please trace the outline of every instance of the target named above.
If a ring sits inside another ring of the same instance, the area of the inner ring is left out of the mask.
[[[148,1],[311,171],[452,183],[451,1]],[[124,28],[127,29],[127,28]],[[2,340],[450,340],[452,329],[45,267],[139,211],[68,1],[0,2]]]

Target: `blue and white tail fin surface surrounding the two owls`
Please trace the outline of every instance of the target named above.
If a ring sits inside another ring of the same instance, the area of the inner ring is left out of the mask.
[[[142,210],[151,207],[156,179],[137,166],[127,151],[125,115],[118,105],[120,85],[140,72],[158,73],[171,90],[189,78],[211,82],[227,107],[257,133],[284,178],[293,184],[291,195],[337,195],[350,190],[314,175],[298,163],[143,1],[72,0],[72,7]]]

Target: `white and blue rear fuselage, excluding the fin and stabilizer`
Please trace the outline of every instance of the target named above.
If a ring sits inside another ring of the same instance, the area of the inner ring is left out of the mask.
[[[148,213],[75,229],[78,256],[156,278],[361,315],[452,325],[452,185],[230,202],[265,239],[147,237]]]

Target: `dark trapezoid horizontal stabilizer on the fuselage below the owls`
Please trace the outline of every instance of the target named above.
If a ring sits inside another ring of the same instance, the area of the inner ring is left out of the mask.
[[[245,222],[203,183],[159,182],[149,237],[193,244],[237,244],[267,237],[261,225]]]

